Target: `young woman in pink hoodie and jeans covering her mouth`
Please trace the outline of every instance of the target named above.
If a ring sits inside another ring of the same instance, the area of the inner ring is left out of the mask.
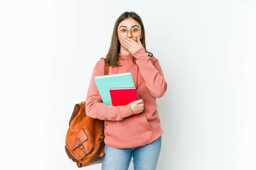
[[[156,98],[164,95],[167,84],[159,61],[146,50],[145,29],[138,14],[124,12],[116,20],[106,61],[109,74],[131,72],[140,100],[117,107],[103,104],[93,78],[104,75],[104,60],[96,63],[86,113],[105,120],[102,170],[128,170],[132,156],[134,170],[155,170],[163,134]]]

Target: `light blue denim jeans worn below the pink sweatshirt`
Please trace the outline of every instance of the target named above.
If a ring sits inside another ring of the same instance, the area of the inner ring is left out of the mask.
[[[156,170],[162,136],[150,144],[133,148],[113,148],[105,144],[102,170],[128,170],[133,156],[134,170]]]

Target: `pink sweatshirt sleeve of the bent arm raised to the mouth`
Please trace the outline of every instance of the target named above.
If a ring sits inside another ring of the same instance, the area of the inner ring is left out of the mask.
[[[151,57],[147,55],[144,48],[139,49],[133,56],[137,58],[136,63],[151,95],[155,98],[162,97],[166,92],[167,84],[159,61],[155,59],[152,63]]]

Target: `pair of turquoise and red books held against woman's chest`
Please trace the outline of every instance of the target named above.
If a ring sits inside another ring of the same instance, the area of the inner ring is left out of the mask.
[[[123,106],[139,100],[131,72],[95,76],[94,81],[102,102],[108,106]]]

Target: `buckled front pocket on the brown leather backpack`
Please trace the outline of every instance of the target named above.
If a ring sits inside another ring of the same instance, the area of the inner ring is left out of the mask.
[[[93,149],[93,145],[88,140],[82,127],[67,138],[66,145],[73,151],[78,159],[83,158]]]

